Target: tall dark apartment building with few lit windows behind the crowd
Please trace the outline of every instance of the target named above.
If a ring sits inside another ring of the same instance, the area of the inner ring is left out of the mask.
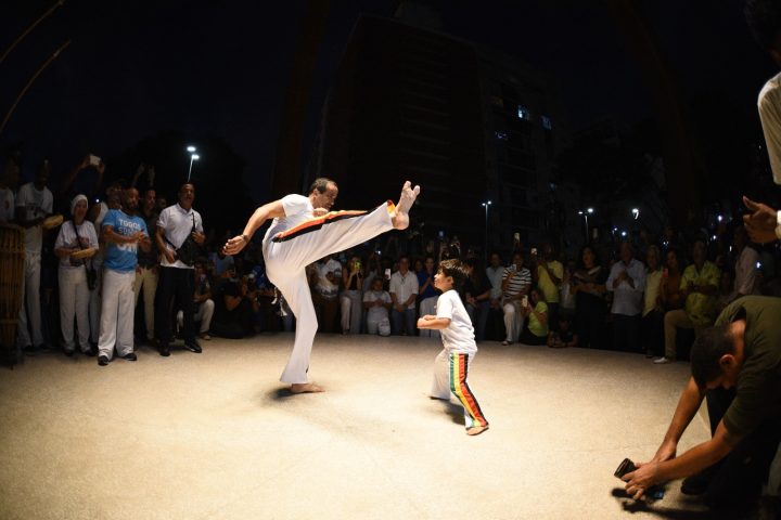
[[[356,24],[323,108],[307,181],[332,177],[340,207],[423,186],[413,224],[508,248],[543,233],[558,148],[554,98],[517,60],[395,18]],[[488,211],[483,203],[492,202]]]

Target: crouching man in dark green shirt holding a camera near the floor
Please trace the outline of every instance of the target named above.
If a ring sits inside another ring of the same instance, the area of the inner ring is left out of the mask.
[[[761,484],[778,500],[781,440],[781,298],[746,296],[730,303],[692,347],[689,379],[662,445],[624,476],[640,498],[652,485],[688,477],[687,494],[713,508],[755,503]],[[707,399],[712,439],[676,456],[678,441]]]

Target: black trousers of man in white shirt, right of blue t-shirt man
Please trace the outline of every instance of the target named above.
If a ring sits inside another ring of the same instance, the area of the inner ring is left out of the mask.
[[[184,341],[195,340],[193,296],[195,294],[195,270],[164,268],[161,265],[157,292],[155,295],[155,336],[158,341],[170,341],[171,322],[175,311],[181,309],[184,315]]]

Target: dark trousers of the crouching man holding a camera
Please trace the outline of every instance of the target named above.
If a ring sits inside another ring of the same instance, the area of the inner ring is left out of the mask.
[[[712,434],[734,396],[734,389],[718,388],[706,393]],[[779,441],[781,424],[769,419],[743,438],[716,465],[718,469],[705,492],[705,503],[712,508],[751,506],[767,481]]]

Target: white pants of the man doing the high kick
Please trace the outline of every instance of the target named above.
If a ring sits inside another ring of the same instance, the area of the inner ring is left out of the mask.
[[[282,292],[296,316],[293,352],[280,378],[283,382],[307,382],[309,358],[317,333],[317,316],[305,268],[327,255],[355,247],[393,229],[390,203],[359,217],[324,223],[320,229],[284,242],[264,240],[266,274]],[[317,219],[316,219],[317,220]]]

